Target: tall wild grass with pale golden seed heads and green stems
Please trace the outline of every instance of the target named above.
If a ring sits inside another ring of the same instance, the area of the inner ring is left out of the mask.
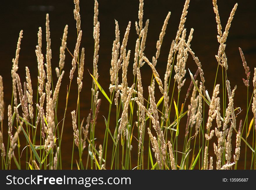
[[[102,79],[99,79],[98,73],[100,13],[97,0],[95,0],[93,20],[93,62],[86,63],[93,65],[93,70],[89,72],[84,70],[86,47],[83,48],[81,43],[83,36],[79,0],[74,0],[76,21],[74,30],[77,32],[77,42],[72,51],[72,47],[67,45],[68,26],[66,25],[60,47],[59,66],[55,68],[55,72],[52,69],[55,66],[51,64],[48,14],[46,15],[46,55],[42,53],[42,28],[39,27],[38,44],[35,48],[38,62],[37,89],[32,89],[28,67],[25,67],[26,82],[22,83],[18,74],[19,50],[23,37],[21,30],[11,70],[11,102],[4,102],[4,79],[0,76],[1,169],[62,169],[63,154],[72,155],[70,169],[237,169],[239,164],[242,164],[239,161],[241,157],[245,160],[244,169],[255,169],[256,68],[254,68],[253,85],[250,87],[250,68],[241,48],[239,51],[246,73],[243,82],[247,88],[247,104],[246,117],[239,125],[236,118],[241,108],[234,105],[234,98],[239,98],[235,96],[237,87],[228,80],[227,75],[226,40],[238,5],[234,5],[223,30],[217,1],[213,0],[217,41],[220,45],[216,50],[216,77],[213,94],[210,95],[207,91],[210,87],[203,72],[203,68],[207,69],[207,67],[201,64],[191,46],[193,32],[196,31],[191,28],[187,37],[185,22],[189,3],[189,0],[185,1],[177,35],[170,44],[164,76],[159,75],[156,65],[171,12],[168,12],[163,22],[159,40],[156,42],[156,54],[152,59],[144,54],[145,48],[151,47],[146,47],[150,23],[148,19],[143,22],[145,17],[143,0],[138,1],[138,21],[128,23],[126,30],[123,31],[125,32],[123,37],[120,37],[119,23],[115,21],[115,39],[111,64],[109,64],[110,79],[104,79],[109,80],[109,89],[102,88],[100,85]],[[132,24],[135,24],[136,31],[130,30]],[[134,57],[131,55],[131,50],[126,49],[130,32],[136,32],[138,35]],[[65,64],[69,64],[65,63],[66,56],[72,57],[70,84],[67,87],[66,102],[59,102],[61,81],[63,77],[67,77],[65,74],[67,71],[64,73]],[[198,67],[195,75],[186,65],[189,56],[194,59]],[[130,62],[133,62],[133,73],[128,73]],[[149,86],[142,83],[141,71],[145,67],[150,67],[152,70]],[[22,69],[24,68],[21,67],[19,70]],[[222,71],[222,75],[218,70]],[[70,93],[76,93],[70,91],[71,85],[74,85],[72,80],[75,80],[75,72],[78,76],[77,104],[73,105],[70,104],[69,97]],[[185,78],[186,73],[189,73],[189,81]],[[133,80],[128,81],[127,75],[132,74]],[[84,75],[91,76],[91,89],[87,89],[91,91],[91,95],[81,98]],[[56,84],[53,80],[55,77]],[[222,79],[222,84],[216,84],[218,77]],[[188,89],[184,89],[185,82],[190,83]],[[248,93],[249,88],[253,88],[251,97]],[[155,93],[161,94],[161,98],[156,99]],[[181,98],[181,93],[186,93],[185,99]],[[33,102],[35,99],[36,102]],[[88,115],[81,115],[80,103],[89,99],[91,102],[90,110],[87,110]],[[109,104],[109,111],[108,115],[103,116],[105,126],[100,126],[97,124],[97,119],[100,117],[100,105],[103,101]],[[4,123],[5,104],[8,105],[8,127]],[[64,104],[65,107],[62,117],[59,117],[60,104]],[[72,108],[71,113],[67,113],[68,107]],[[248,122],[250,111],[253,112],[254,117]],[[73,135],[73,142],[70,142],[73,144],[72,152],[67,152],[65,147],[61,146],[66,117],[72,118],[74,131],[70,134]],[[110,125],[110,120],[115,122],[115,126]],[[98,131],[104,133],[103,142],[97,140]],[[8,133],[8,140],[3,140],[3,133],[6,133],[6,136]],[[236,140],[232,139],[233,134]],[[21,146],[20,136],[25,137],[24,147]],[[252,136],[252,142],[248,142],[249,136]],[[232,142],[235,142],[236,146],[232,147],[234,144]],[[79,153],[78,158],[74,154],[76,149]],[[241,149],[244,149],[244,155],[240,155]],[[214,155],[209,156],[210,152]],[[134,158],[134,155],[137,157]],[[251,158],[248,155],[252,155]],[[250,167],[246,166],[248,159],[251,162]],[[25,167],[22,162],[26,162]]]

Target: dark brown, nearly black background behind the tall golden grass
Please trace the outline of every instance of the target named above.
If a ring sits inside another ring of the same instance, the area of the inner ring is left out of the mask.
[[[253,78],[253,68],[255,65],[255,50],[256,50],[256,38],[255,38],[255,18],[256,18],[256,2],[255,1],[244,1],[244,0],[225,0],[218,1],[218,8],[221,17],[221,23],[223,28],[227,23],[227,19],[230,15],[235,3],[238,3],[238,8],[232,21],[229,35],[227,37],[227,47],[226,54],[228,58],[229,68],[227,70],[228,79],[230,80],[231,87],[237,85],[238,88],[235,93],[234,105],[236,107],[240,106],[243,111],[238,115],[239,124],[240,119],[244,119],[246,113],[246,87],[243,85],[242,78],[245,78],[245,72],[242,66],[241,58],[239,55],[238,47],[241,47],[244,55],[246,57],[248,66],[252,72],[250,80],[250,91],[249,96],[252,94],[252,78]],[[8,2],[7,2],[8,3]],[[115,38],[115,22],[116,19],[119,22],[120,27],[120,40],[122,40],[125,28],[129,21],[131,21],[131,30],[129,35],[129,40],[127,44],[127,50],[131,50],[131,59],[128,70],[128,83],[131,86],[133,81],[132,75],[132,64],[133,55],[136,42],[136,30],[135,21],[138,21],[138,1],[117,1],[99,0],[99,22],[100,22],[100,48],[99,48],[99,62],[98,62],[98,72],[99,72],[99,82],[103,88],[107,90],[109,86],[109,68],[111,61],[111,49],[112,43]],[[156,52],[156,41],[159,38],[159,33],[161,32],[163,21],[168,13],[171,11],[171,16],[169,24],[166,29],[166,35],[163,40],[161,47],[161,54],[157,63],[157,70],[163,79],[166,63],[168,58],[168,53],[170,49],[171,41],[175,38],[177,28],[179,25],[180,16],[182,14],[182,9],[184,5],[184,0],[179,1],[145,1],[144,2],[144,17],[143,21],[145,23],[146,19],[150,19],[145,55],[151,59]],[[81,46],[85,47],[86,60],[85,60],[85,71],[83,79],[83,89],[81,93],[81,117],[87,117],[90,108],[90,88],[91,88],[91,78],[88,75],[87,68],[91,71],[93,66],[93,0],[80,1],[80,15],[81,15],[81,30],[83,30],[83,36],[81,41]],[[76,43],[76,21],[73,15],[74,3],[73,1],[17,1],[15,4],[6,4],[1,8],[0,16],[0,75],[3,77],[4,82],[4,92],[5,92],[5,103],[7,105],[11,102],[11,74],[10,70],[12,68],[12,58],[15,57],[15,50],[19,31],[24,30],[20,57],[19,57],[19,70],[18,74],[21,76],[21,80],[25,81],[25,66],[28,66],[31,71],[32,85],[35,89],[37,84],[37,61],[35,56],[35,46],[37,45],[37,32],[38,27],[41,26],[43,30],[43,53],[45,54],[46,42],[45,42],[45,14],[49,13],[50,18],[50,31],[51,31],[51,49],[52,49],[52,69],[58,66],[59,61],[59,47],[61,45],[63,29],[66,24],[69,26],[68,37],[67,37],[67,47],[73,52]],[[202,63],[202,68],[205,73],[206,83],[205,86],[212,93],[214,78],[217,68],[217,61],[215,55],[218,52],[218,41],[216,39],[217,29],[215,21],[215,13],[213,11],[211,0],[191,0],[188,9],[187,20],[185,28],[187,28],[187,35],[189,34],[190,28],[194,28],[193,40],[191,42],[191,48],[195,52],[196,56],[200,59]],[[60,98],[59,98],[59,115],[58,118],[61,120],[63,118],[63,112],[65,109],[65,97],[66,97],[66,86],[69,84],[69,71],[71,68],[71,56],[66,52],[65,60],[65,75],[61,85]],[[192,73],[196,71],[196,65],[193,59],[189,55],[189,59],[186,64],[186,68],[190,68]],[[145,65],[142,68],[142,78],[143,87],[146,93],[147,86],[150,82],[151,69]],[[222,83],[221,73],[218,75],[218,83]],[[181,99],[184,99],[187,87],[190,83],[190,77],[187,74],[185,76],[187,81],[182,88]],[[54,77],[54,84],[56,84],[56,77]],[[172,83],[173,84],[173,83]],[[157,88],[156,88],[157,89]],[[103,143],[104,138],[104,119],[102,115],[107,116],[108,113],[108,102],[103,98],[101,105],[99,120],[96,126],[96,137],[97,144]],[[156,99],[160,97],[160,94],[156,93]],[[176,98],[176,96],[175,96]],[[65,120],[64,127],[64,137],[62,149],[65,148],[65,153],[63,157],[63,167],[66,169],[70,168],[71,152],[72,152],[72,126],[71,126],[71,115],[70,111],[76,108],[77,101],[77,84],[74,77],[71,87],[71,95],[68,104],[67,118]],[[187,105],[186,105],[187,106]],[[174,114],[173,114],[174,115]],[[7,132],[7,115],[5,116],[5,132]],[[252,118],[252,113],[249,111],[249,119]],[[184,119],[186,120],[186,119]],[[111,121],[111,131],[113,131],[114,121]],[[182,133],[181,133],[182,134]],[[6,134],[5,134],[6,135]],[[22,135],[21,135],[22,136]],[[136,136],[136,135],[135,135]],[[5,138],[6,139],[6,138]],[[133,142],[136,140],[134,139]],[[234,142],[233,137],[233,142]],[[182,141],[183,142],[183,141]],[[135,144],[136,146],[136,144]],[[234,147],[234,146],[233,146]],[[23,147],[22,147],[23,148]],[[181,147],[182,149],[182,147]],[[234,149],[234,148],[233,148]],[[242,143],[242,148],[244,149],[244,144]],[[111,150],[110,150],[111,151]],[[234,150],[233,150],[234,151]],[[136,165],[136,147],[132,151],[134,152],[134,162]],[[109,152],[110,153],[110,152]],[[251,152],[248,151],[249,158]],[[212,153],[210,153],[212,154]],[[241,155],[241,160],[243,160],[243,155]],[[215,157],[214,157],[215,158]],[[250,160],[248,160],[248,164]]]

